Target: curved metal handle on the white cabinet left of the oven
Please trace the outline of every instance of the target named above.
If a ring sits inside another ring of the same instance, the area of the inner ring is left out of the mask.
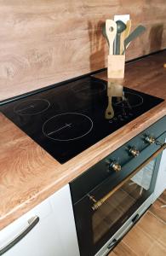
[[[34,216],[30,219],[28,219],[28,225],[24,230],[21,230],[20,233],[14,238],[9,241],[5,246],[0,247],[0,255],[3,255],[3,253],[6,253],[11,247],[14,247],[16,243],[18,243],[24,236],[26,236],[33,228],[36,226],[36,224],[39,222],[39,217]]]

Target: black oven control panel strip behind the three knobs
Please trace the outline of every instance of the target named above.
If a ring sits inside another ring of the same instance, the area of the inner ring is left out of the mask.
[[[166,119],[163,117],[159,119],[156,123],[148,127],[146,130],[140,132],[136,137],[129,140],[128,143],[123,144],[122,147],[117,148],[112,154],[109,154],[103,160],[100,160],[96,165],[89,168],[87,172],[83,172],[80,178],[75,178],[72,181],[72,201],[76,203],[84,195],[89,193],[92,189],[99,186],[100,183],[104,183],[107,179],[114,180],[119,176],[123,178],[123,173],[131,172],[133,168],[140,165],[140,163],[146,160],[151,154],[153,154],[160,146],[155,143],[149,144],[146,142],[147,136],[161,137],[164,136],[166,130]],[[135,147],[140,151],[139,157],[133,157],[129,153],[129,148]],[[115,160],[120,166],[122,166],[122,172],[115,173],[109,170],[109,166],[112,161]],[[117,179],[118,183],[120,179]],[[115,180],[114,180],[115,183]],[[77,193],[76,193],[77,191]]]

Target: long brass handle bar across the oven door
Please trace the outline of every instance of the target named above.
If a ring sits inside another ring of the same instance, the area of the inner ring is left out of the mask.
[[[92,207],[92,209],[95,211],[97,210],[100,206],[102,206],[102,204],[110,198],[111,195],[113,195],[117,189],[120,189],[124,183],[126,183],[131,177],[135,176],[135,174],[137,172],[139,172],[144,166],[146,166],[150,161],[152,161],[154,158],[157,157],[158,154],[160,154],[164,149],[166,148],[166,143],[163,143],[163,145],[161,146],[161,148],[158,148],[157,151],[152,154],[148,159],[146,159],[140,166],[138,166],[134,172],[132,172],[128,177],[124,178],[123,181],[121,183],[119,183],[114,189],[112,189],[112,191],[110,191],[107,195],[105,195],[103,198],[101,198],[99,201],[96,201],[94,199],[94,196],[91,195],[89,196],[89,198],[94,201],[94,205]]]

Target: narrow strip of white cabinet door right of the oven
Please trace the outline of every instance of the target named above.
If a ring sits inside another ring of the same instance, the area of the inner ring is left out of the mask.
[[[166,149],[162,154],[162,159],[157,174],[157,183],[154,190],[153,201],[155,201],[157,197],[163,193],[164,189],[166,189]]]

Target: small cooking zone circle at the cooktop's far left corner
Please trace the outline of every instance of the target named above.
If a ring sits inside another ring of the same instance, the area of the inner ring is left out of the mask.
[[[49,101],[43,99],[31,99],[24,102],[20,102],[15,108],[14,113],[20,115],[35,115],[43,113],[50,106]]]

